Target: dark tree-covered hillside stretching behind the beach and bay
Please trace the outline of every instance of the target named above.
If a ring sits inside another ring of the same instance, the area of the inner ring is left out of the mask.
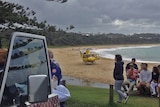
[[[78,45],[107,45],[107,44],[142,44],[159,43],[160,34],[85,34],[66,32],[76,28],[73,25],[65,30],[48,24],[47,21],[38,22],[36,12],[19,4],[0,1],[0,38],[3,43],[8,42],[14,31],[44,35],[49,45],[78,46]]]

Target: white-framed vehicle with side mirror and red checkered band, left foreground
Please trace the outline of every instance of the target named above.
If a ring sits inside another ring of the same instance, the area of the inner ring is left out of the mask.
[[[52,94],[46,38],[15,32],[7,52],[0,71],[0,107],[60,107]]]

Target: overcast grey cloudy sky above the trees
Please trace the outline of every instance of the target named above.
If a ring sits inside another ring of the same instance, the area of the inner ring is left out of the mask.
[[[39,21],[73,32],[160,33],[160,0],[5,0],[36,12]]]

